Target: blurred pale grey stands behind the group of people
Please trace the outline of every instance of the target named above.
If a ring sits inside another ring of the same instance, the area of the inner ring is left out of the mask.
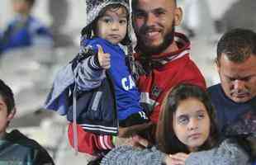
[[[0,31],[15,13],[12,1],[0,2]],[[214,64],[216,42],[225,31],[235,27],[255,30],[254,0],[178,0],[183,7],[183,25],[178,31],[192,41],[192,59],[206,78],[207,86],[219,82]],[[69,147],[67,120],[42,105],[55,74],[78,53],[80,31],[86,21],[85,0],[37,0],[32,8],[53,34],[54,45],[31,46],[0,54],[0,78],[15,92],[17,116],[11,129],[19,129],[36,139],[50,152],[57,165],[85,164],[89,157],[75,155]]]

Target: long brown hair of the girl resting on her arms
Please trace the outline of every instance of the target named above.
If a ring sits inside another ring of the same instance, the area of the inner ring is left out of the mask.
[[[201,101],[206,106],[211,122],[209,137],[198,148],[198,151],[213,148],[218,143],[219,135],[216,127],[215,111],[206,91],[196,85],[182,83],[173,87],[168,92],[161,107],[156,140],[159,150],[164,153],[190,153],[187,146],[178,140],[173,130],[174,113],[177,111],[180,102],[187,98],[196,98],[198,101]]]

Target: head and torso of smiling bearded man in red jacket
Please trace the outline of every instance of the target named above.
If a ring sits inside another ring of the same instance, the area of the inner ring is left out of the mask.
[[[175,26],[183,11],[175,0],[133,0],[133,27],[137,38],[135,59],[140,64],[140,102],[153,123],[166,92],[180,82],[205,88],[206,82],[189,58],[190,41]]]

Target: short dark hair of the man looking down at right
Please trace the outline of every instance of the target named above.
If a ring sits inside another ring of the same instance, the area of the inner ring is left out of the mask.
[[[252,54],[256,56],[256,33],[240,28],[226,32],[217,45],[217,63],[220,62],[221,54],[235,63],[244,62]]]

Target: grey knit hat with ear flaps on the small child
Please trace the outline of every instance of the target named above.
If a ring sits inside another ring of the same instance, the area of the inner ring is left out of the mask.
[[[87,39],[92,36],[93,21],[97,19],[100,12],[109,5],[120,4],[123,7],[126,7],[128,13],[128,27],[126,33],[126,43],[123,45],[130,44],[130,1],[129,0],[86,0],[86,12],[87,12],[87,22],[83,27],[82,35],[85,35]]]

